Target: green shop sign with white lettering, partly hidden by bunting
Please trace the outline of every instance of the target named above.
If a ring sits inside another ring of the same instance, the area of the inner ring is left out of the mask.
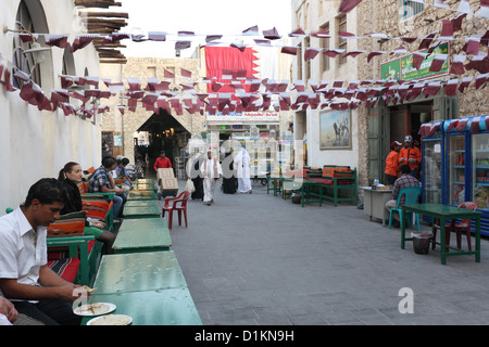
[[[434,49],[431,54],[426,56],[419,69],[415,69],[413,67],[413,54],[404,55],[397,60],[380,64],[381,78],[413,80],[446,75],[449,73],[448,60],[443,63],[439,72],[430,72],[429,67],[431,66],[431,62],[437,54],[448,54],[448,43],[438,46],[436,49]]]

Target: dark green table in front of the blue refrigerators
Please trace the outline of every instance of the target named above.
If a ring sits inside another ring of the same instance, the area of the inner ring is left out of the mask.
[[[423,216],[432,217],[434,219],[440,220],[440,254],[441,264],[447,264],[448,256],[459,256],[459,255],[475,255],[475,261],[480,262],[480,211],[469,210],[465,208],[459,208],[442,204],[411,204],[401,206],[401,248],[404,249],[405,241],[412,241],[412,237],[405,237],[405,223],[404,223],[404,211],[412,211]],[[457,219],[457,218],[474,218],[476,220],[476,231],[475,231],[475,250],[461,250],[459,248],[450,247],[455,252],[447,252],[446,245],[446,228],[444,224],[447,220]],[[432,241],[435,242],[435,241]]]

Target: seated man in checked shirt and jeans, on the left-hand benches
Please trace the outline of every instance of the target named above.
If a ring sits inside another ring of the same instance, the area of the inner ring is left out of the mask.
[[[110,176],[110,171],[115,169],[115,158],[112,156],[105,156],[102,159],[102,166],[100,166],[95,172],[90,181],[88,192],[90,193],[116,193],[112,197],[114,202],[114,218],[122,217],[123,205],[126,202],[126,195],[122,188],[117,188],[114,184],[113,178]]]

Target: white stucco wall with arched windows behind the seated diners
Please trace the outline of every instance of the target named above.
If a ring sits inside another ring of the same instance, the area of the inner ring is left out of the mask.
[[[45,12],[49,33],[40,34],[70,34],[70,43],[82,34],[75,25],[78,11],[73,1],[30,2],[40,4]],[[15,27],[18,4],[18,0],[0,2],[0,27]],[[0,40],[3,62],[12,61],[13,35],[8,33]],[[61,88],[63,53],[63,49],[53,47],[41,64],[41,88],[48,98],[52,89]],[[84,76],[86,69],[90,76],[99,75],[98,54],[92,44],[75,52],[70,74]],[[61,110],[39,112],[18,94],[20,91],[8,92],[0,83],[0,215],[7,207],[15,207],[24,201],[29,187],[40,178],[58,177],[65,163],[74,160],[88,168],[98,167],[101,160],[101,115],[93,124],[92,119],[64,116]]]

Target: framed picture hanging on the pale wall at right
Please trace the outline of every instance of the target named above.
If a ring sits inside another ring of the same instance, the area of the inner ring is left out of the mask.
[[[319,149],[351,150],[351,112],[349,110],[319,114]]]

